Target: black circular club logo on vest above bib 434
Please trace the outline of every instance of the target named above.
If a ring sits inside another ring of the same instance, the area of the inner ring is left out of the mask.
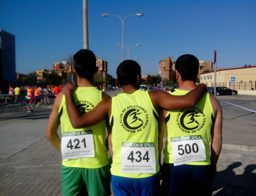
[[[148,125],[148,114],[142,107],[127,107],[122,110],[119,122],[127,132],[140,132]]]

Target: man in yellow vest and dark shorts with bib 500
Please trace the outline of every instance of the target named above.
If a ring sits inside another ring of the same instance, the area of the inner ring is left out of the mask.
[[[169,93],[185,95],[195,89],[198,68],[195,56],[180,56],[175,62],[179,88]],[[193,107],[160,111],[160,153],[165,129],[161,194],[211,196],[222,143],[222,110],[218,100],[206,93]]]

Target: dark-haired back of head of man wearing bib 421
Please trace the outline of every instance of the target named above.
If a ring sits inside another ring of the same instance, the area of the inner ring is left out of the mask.
[[[73,57],[77,75],[90,79],[95,73],[96,57],[91,50],[81,49]]]

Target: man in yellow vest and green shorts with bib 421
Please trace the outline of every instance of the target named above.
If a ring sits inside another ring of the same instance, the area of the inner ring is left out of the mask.
[[[74,55],[74,63],[73,72],[76,73],[78,87],[72,96],[76,101],[75,107],[82,114],[110,97],[92,84],[94,74],[98,71],[96,57],[92,51],[80,50]],[[59,125],[61,125],[61,139],[57,134]],[[61,92],[57,95],[47,124],[46,136],[62,154],[63,196],[111,195],[111,173],[108,150],[105,147],[105,129],[105,119],[90,127],[73,128],[67,115],[65,96]],[[111,133],[109,126],[108,133]]]

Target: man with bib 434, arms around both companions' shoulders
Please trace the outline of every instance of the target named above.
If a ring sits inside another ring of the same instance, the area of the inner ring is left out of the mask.
[[[160,107],[191,107],[207,88],[199,85],[185,96],[139,90],[140,65],[132,60],[120,63],[116,72],[123,93],[102,101],[85,114],[80,114],[74,104],[71,96],[74,85],[64,86],[62,92],[66,96],[71,124],[77,128],[91,126],[109,116],[112,133],[108,142],[113,159],[111,184],[114,195],[159,195],[158,110]]]

